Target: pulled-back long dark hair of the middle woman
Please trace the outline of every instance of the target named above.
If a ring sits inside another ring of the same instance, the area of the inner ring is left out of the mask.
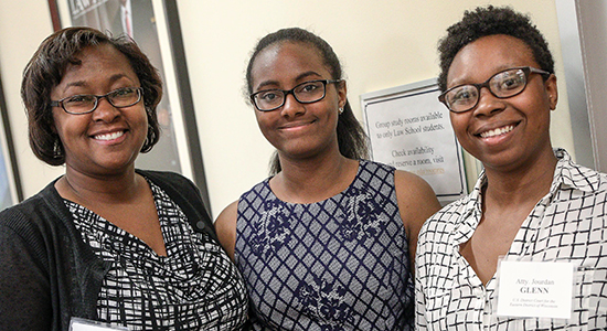
[[[320,57],[324,62],[324,66],[327,66],[329,73],[331,74],[331,79],[342,78],[340,61],[329,43],[307,30],[300,28],[288,28],[264,36],[255,46],[246,68],[247,94],[253,93],[253,77],[251,75],[255,58],[257,58],[257,55],[259,55],[259,53],[266,47],[280,42],[299,42],[312,46],[319,52]],[[348,99],[345,100],[343,113],[338,119],[337,134],[339,151],[342,156],[354,160],[365,159],[369,157],[366,135],[364,134],[359,120],[354,117],[354,113],[352,113],[352,107],[350,106],[350,102],[348,102]],[[278,152],[275,151],[270,160],[269,173],[270,175],[274,175],[280,172],[280,159],[278,158]]]

